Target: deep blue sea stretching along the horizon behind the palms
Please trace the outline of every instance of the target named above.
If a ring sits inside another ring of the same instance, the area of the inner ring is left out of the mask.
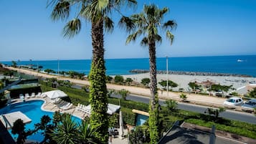
[[[184,72],[217,72],[256,77],[256,55],[213,57],[169,57],[169,70]],[[11,64],[11,62],[1,62]],[[43,69],[57,71],[58,60],[20,61],[18,64],[42,65]],[[91,59],[59,60],[60,71],[90,72]],[[166,70],[166,57],[156,59],[157,69]],[[131,69],[149,69],[148,58],[105,59],[107,75],[129,75]]]

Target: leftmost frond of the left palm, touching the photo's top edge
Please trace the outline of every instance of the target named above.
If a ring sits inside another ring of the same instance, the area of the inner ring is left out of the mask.
[[[68,1],[58,1],[52,10],[51,18],[56,21],[67,19],[70,15],[70,3]]]

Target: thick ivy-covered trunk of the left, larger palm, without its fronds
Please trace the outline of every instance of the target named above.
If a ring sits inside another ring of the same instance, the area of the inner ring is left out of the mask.
[[[95,136],[108,143],[107,87],[103,47],[103,19],[92,22],[93,62],[90,69],[90,125],[96,128]]]

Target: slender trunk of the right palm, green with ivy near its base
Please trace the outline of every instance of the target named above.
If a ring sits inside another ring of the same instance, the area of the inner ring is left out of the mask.
[[[148,44],[149,51],[149,64],[150,64],[150,90],[151,90],[151,103],[149,110],[149,129],[150,129],[150,138],[151,143],[158,143],[159,140],[159,110],[158,110],[158,95],[157,95],[157,81],[156,81],[156,43],[150,41]]]

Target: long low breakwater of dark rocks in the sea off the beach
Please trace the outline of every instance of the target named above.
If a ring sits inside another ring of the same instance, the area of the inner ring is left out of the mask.
[[[149,70],[146,69],[132,69],[129,72],[133,74],[147,73]],[[157,74],[166,74],[165,70],[158,70]],[[239,74],[227,74],[217,72],[182,72],[182,71],[169,71],[169,75],[202,75],[202,76],[227,76],[227,77],[252,77],[250,75],[239,75]]]

